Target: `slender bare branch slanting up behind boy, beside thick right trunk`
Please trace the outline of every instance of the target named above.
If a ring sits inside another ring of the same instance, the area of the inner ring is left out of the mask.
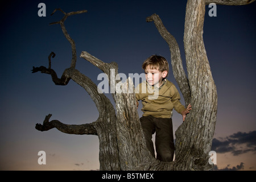
[[[147,17],[146,21],[154,21],[154,24],[158,29],[160,35],[164,40],[166,40],[171,52],[171,64],[175,80],[177,81],[180,91],[183,94],[186,105],[189,104],[191,100],[189,82],[183,69],[182,60],[180,56],[180,49],[179,45],[176,42],[176,39],[174,38],[174,36],[170,34],[170,32],[167,31],[166,27],[164,27],[163,25],[162,20],[159,18],[157,14],[152,14],[151,16]]]

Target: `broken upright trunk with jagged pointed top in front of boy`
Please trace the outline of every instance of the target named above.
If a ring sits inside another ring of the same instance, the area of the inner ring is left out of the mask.
[[[139,122],[133,80],[129,77],[116,94],[117,141],[122,170],[147,170],[155,159],[146,148]],[[138,152],[139,151],[139,152]],[[134,158],[134,156],[140,156]]]

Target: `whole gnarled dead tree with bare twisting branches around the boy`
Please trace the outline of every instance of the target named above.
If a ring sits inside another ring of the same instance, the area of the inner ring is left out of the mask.
[[[71,67],[64,70],[58,78],[51,68],[51,57],[48,56],[49,65],[46,67],[33,67],[32,73],[42,72],[51,75],[56,85],[67,85],[70,80],[82,86],[97,106],[99,117],[96,121],[84,125],[67,125],[57,120],[49,121],[48,114],[43,125],[36,124],[39,131],[56,128],[63,133],[77,135],[98,135],[100,141],[100,170],[207,170],[209,165],[209,151],[212,146],[214,128],[217,115],[217,91],[210,71],[207,53],[203,41],[203,24],[205,5],[209,3],[220,5],[246,5],[253,1],[224,1],[224,0],[188,0],[185,14],[184,48],[188,76],[185,75],[179,46],[174,38],[164,27],[158,15],[153,14],[146,19],[154,22],[163,39],[166,40],[171,52],[171,64],[174,77],[183,94],[185,104],[191,103],[193,109],[179,126],[176,135],[175,161],[163,163],[153,158],[144,143],[143,132],[139,122],[134,92],[126,92],[133,81],[128,78],[122,84],[121,90],[112,93],[115,109],[110,100],[98,93],[97,85],[90,78],[79,72],[76,67],[75,42],[69,36],[64,22],[70,15],[86,13],[86,10],[65,13],[63,19],[51,24],[60,24],[63,34],[71,43]],[[56,11],[55,10],[55,11]],[[53,11],[53,13],[55,13]],[[52,13],[52,14],[53,14]],[[81,52],[80,57],[101,69],[109,77],[115,70],[118,76],[117,63],[104,63],[88,52]],[[117,84],[117,79],[115,83]],[[113,86],[113,85],[110,85]],[[134,86],[133,86],[134,89]]]

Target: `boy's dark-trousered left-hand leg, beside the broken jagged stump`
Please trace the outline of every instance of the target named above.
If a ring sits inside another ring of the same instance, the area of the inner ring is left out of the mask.
[[[151,152],[152,156],[155,158],[154,144],[152,142],[152,134],[155,133],[155,124],[152,122],[151,116],[141,117],[140,121],[144,133],[144,138],[146,140],[146,146]]]

